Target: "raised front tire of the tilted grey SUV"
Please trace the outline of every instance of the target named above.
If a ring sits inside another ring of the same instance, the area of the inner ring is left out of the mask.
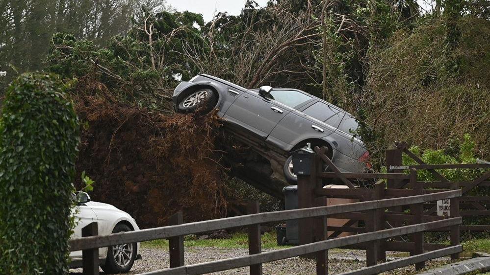
[[[188,100],[189,96],[199,92],[206,92],[205,98],[202,99],[202,101],[199,103],[196,102],[195,105],[185,106],[185,104],[188,103],[186,101]],[[192,113],[200,106],[205,104],[205,106],[202,107],[203,112],[208,113],[216,106],[217,103],[218,103],[218,94],[216,92],[214,92],[212,89],[209,88],[198,87],[198,88],[191,88],[183,91],[177,98],[177,106],[175,109],[178,113]]]

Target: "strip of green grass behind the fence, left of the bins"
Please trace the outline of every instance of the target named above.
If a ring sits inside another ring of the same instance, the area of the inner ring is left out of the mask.
[[[262,248],[284,248],[277,245],[276,232],[265,232],[262,235]],[[142,247],[168,250],[168,240],[155,240],[141,243]],[[194,235],[184,238],[185,247],[220,247],[220,248],[248,248],[248,237],[245,232],[238,232],[230,239],[200,240]]]

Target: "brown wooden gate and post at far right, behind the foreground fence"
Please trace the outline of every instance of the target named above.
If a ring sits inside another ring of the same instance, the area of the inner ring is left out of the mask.
[[[422,184],[426,189],[443,189],[449,188],[454,185],[458,185],[462,188],[463,197],[460,199],[460,214],[462,217],[488,217],[490,215],[490,196],[478,196],[474,195],[477,192],[478,187],[490,186],[490,170],[484,172],[481,176],[477,177],[473,181],[449,181],[438,170],[445,169],[489,169],[488,163],[467,163],[467,164],[426,164],[422,159],[413,154],[408,148],[406,142],[395,142],[387,150],[387,171],[388,173],[402,173],[403,171],[410,169],[419,169],[429,171],[438,181],[435,182],[421,182],[416,184]],[[403,165],[402,157],[406,154],[417,165]],[[409,183],[405,179],[390,179],[387,184],[388,188],[413,188],[413,183]],[[397,207],[396,211],[403,211],[401,207]],[[424,215],[437,214],[437,205],[434,203],[424,204]],[[469,231],[488,231],[490,225],[464,225],[460,227],[461,230]]]

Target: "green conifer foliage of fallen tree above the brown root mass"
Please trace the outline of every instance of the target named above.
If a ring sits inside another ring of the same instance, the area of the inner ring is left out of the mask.
[[[50,43],[47,70],[80,80],[86,92],[110,96],[152,109],[171,109],[167,91],[177,85],[176,75],[197,74],[182,52],[202,44],[202,15],[146,11],[127,36],[114,36],[106,47],[74,35],[56,33]],[[191,76],[192,75],[192,76]]]

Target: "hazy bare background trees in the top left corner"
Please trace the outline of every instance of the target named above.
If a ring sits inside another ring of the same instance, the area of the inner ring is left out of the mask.
[[[112,36],[126,34],[143,6],[169,8],[165,1],[154,0],[0,0],[0,70],[8,71],[0,89],[18,72],[45,68],[54,33],[103,46]]]

